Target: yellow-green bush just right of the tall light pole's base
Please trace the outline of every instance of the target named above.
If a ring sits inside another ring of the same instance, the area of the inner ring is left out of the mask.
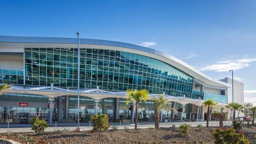
[[[90,120],[93,122],[93,132],[107,131],[110,128],[107,114],[95,114]]]

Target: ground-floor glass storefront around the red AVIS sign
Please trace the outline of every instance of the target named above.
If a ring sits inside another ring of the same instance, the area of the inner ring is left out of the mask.
[[[29,120],[38,116],[48,120],[48,97],[28,94],[0,95],[0,122],[20,122],[20,113],[27,112]],[[28,103],[28,106],[19,106],[19,102]],[[56,112],[53,114],[56,117]]]

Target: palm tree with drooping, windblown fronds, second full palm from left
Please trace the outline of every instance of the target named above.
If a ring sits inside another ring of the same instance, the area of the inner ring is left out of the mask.
[[[164,98],[164,95],[161,94],[158,98],[152,98],[154,100],[154,107],[155,107],[155,128],[159,128],[159,122],[160,122],[160,112],[162,110],[175,110],[174,108],[171,108],[166,104],[166,99]]]

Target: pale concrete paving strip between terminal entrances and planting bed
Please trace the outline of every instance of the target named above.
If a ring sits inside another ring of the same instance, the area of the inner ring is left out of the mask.
[[[198,124],[202,124],[202,126],[206,126],[206,122],[184,122],[184,123],[188,123],[191,127],[196,127],[198,126]],[[168,128],[170,126],[172,126],[172,124],[175,124],[176,127],[180,126],[181,124],[183,124],[183,122],[163,122],[160,123],[160,127],[165,127]],[[223,122],[223,125],[226,126],[230,126],[232,124],[232,121],[225,121]],[[50,132],[53,130],[63,130],[64,128],[70,129],[70,130],[75,130],[75,128],[77,128],[77,123],[57,123],[56,127],[55,127],[55,123],[53,123],[54,126],[50,126],[48,128],[45,129],[45,131]],[[123,129],[125,126],[128,127],[129,129],[133,129],[134,128],[134,124],[132,123],[110,123],[111,126],[116,125],[118,126],[118,128]],[[219,122],[209,122],[209,126],[219,126]],[[5,133],[7,132],[8,128],[7,128],[7,124],[0,124],[0,133]],[[10,124],[9,125],[9,130],[12,130],[12,132],[33,132],[33,130],[31,130],[32,125],[31,124]],[[90,126],[89,123],[80,123],[80,128],[82,130],[91,130],[92,126]],[[154,122],[140,122],[140,124],[138,125],[138,128],[154,128]],[[110,128],[111,129],[111,128]]]

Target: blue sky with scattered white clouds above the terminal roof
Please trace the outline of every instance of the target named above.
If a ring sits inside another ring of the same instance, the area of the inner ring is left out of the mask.
[[[1,0],[0,35],[140,44],[216,79],[244,82],[256,101],[255,0]]]

